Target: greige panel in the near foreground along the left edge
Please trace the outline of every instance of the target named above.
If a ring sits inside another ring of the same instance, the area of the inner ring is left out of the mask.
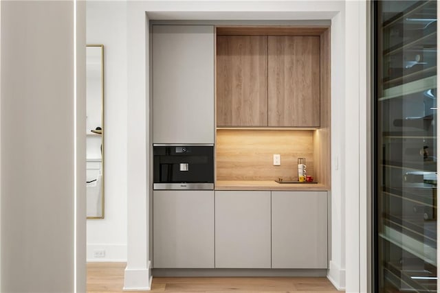
[[[85,292],[85,11],[0,6],[0,291]]]

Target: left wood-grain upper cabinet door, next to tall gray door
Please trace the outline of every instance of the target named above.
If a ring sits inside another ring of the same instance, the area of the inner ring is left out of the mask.
[[[217,36],[217,126],[267,126],[267,36]]]

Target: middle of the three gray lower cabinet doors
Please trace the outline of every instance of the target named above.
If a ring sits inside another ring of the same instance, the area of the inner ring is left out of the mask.
[[[270,191],[215,191],[215,267],[270,268]]]

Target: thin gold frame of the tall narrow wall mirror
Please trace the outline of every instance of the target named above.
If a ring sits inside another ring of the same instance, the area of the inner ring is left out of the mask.
[[[86,56],[87,56],[87,47],[100,47],[101,48],[101,215],[97,216],[87,216],[87,219],[104,219],[104,45],[102,44],[87,44],[86,45]],[[86,64],[86,71],[87,71],[87,64]],[[87,82],[86,82],[87,87]],[[86,95],[87,99],[87,95]],[[86,103],[87,104],[87,103]],[[87,134],[89,134],[87,130]],[[97,132],[94,132],[97,133]],[[87,139],[86,139],[87,144]],[[87,161],[87,158],[86,158]],[[87,171],[87,170],[86,170]],[[86,192],[87,196],[87,192]],[[87,202],[87,200],[86,200]]]

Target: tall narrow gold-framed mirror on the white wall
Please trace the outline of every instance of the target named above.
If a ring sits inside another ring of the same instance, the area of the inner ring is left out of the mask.
[[[86,48],[87,219],[104,218],[104,45]]]

